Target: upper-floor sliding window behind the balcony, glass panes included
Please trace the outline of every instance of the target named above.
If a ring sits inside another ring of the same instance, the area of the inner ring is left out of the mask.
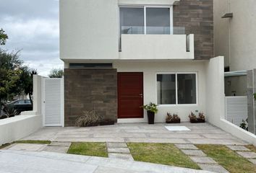
[[[120,6],[120,34],[171,34],[169,6]]]

